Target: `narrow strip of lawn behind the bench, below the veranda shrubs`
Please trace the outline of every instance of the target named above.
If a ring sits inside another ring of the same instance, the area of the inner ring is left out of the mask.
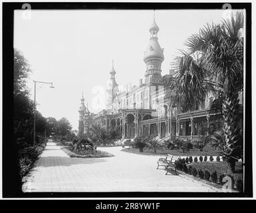
[[[166,154],[172,154],[172,155],[176,155],[176,156],[217,156],[219,154],[221,154],[221,151],[219,150],[214,150],[211,147],[206,147],[203,149],[203,151],[200,151],[198,148],[194,148],[192,150],[190,150],[190,152],[188,153],[183,153],[183,151],[181,149],[167,149],[167,148],[158,148],[156,150],[156,153],[154,153],[154,151],[148,150],[148,148],[145,148],[143,150],[143,152],[140,152],[137,148],[134,147],[130,147],[130,148],[124,148],[122,149],[122,151],[124,152],[130,152],[130,153],[134,153],[134,154],[146,154],[146,155],[166,155]]]

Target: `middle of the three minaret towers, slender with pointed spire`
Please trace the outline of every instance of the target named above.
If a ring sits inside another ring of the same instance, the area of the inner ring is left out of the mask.
[[[116,83],[116,71],[114,69],[114,60],[112,60],[112,69],[110,70],[110,80],[107,85],[107,109],[112,110],[112,104],[116,94],[118,93],[118,84]]]

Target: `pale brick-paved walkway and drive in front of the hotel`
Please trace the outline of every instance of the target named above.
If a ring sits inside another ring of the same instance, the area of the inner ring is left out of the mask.
[[[70,158],[54,142],[25,177],[23,192],[215,192],[197,181],[156,170],[159,156],[122,152],[122,147],[99,148],[108,158]]]

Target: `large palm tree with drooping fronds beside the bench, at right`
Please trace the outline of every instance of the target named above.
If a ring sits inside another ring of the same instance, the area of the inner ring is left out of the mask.
[[[209,93],[219,97],[225,121],[223,156],[232,171],[243,150],[239,134],[239,92],[243,90],[243,13],[219,25],[205,25],[185,43],[173,63],[174,77],[167,95],[172,103],[185,108],[203,103]]]

